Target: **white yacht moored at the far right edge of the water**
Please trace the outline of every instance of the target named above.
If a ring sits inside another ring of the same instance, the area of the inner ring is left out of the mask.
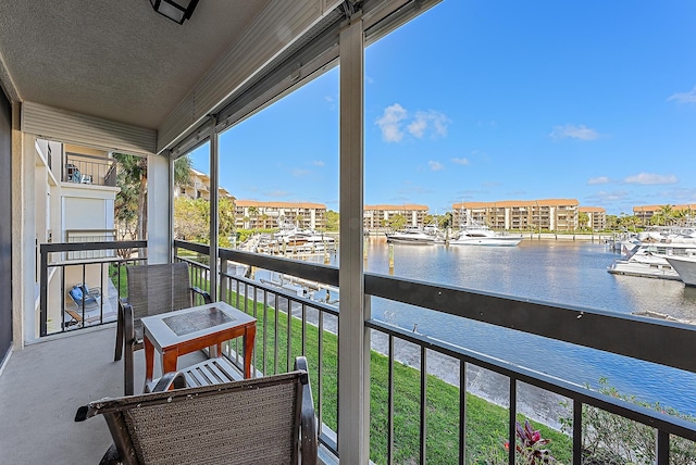
[[[689,256],[696,257],[696,238],[662,238],[639,242],[625,259],[617,260],[607,271],[616,275],[680,280],[668,259]]]

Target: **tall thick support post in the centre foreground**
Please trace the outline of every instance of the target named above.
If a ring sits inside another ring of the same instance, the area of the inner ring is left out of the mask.
[[[338,454],[370,461],[370,317],[363,277],[364,33],[360,13],[340,32],[340,242]]]

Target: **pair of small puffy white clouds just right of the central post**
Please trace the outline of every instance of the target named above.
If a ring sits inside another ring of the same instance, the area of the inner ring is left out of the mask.
[[[385,142],[400,142],[407,131],[418,139],[425,136],[445,137],[449,123],[447,115],[434,110],[418,111],[409,121],[409,112],[399,103],[384,109],[384,113],[375,122],[382,130],[382,140]]]

